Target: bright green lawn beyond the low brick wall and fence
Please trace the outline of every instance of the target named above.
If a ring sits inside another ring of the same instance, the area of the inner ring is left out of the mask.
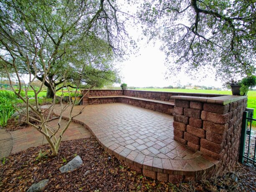
[[[169,89],[169,88],[139,88],[137,90],[145,91],[167,91],[167,92],[182,92],[182,93],[213,93],[213,94],[226,94],[231,95],[231,91],[217,91],[217,90],[200,90],[200,89]],[[256,91],[248,91],[247,107],[256,109]],[[256,119],[256,110],[254,111],[253,118]],[[256,126],[256,122],[253,122]]]

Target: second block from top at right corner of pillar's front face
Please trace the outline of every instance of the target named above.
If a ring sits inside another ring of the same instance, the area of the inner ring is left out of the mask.
[[[201,119],[204,121],[210,121],[216,124],[226,124],[228,122],[229,114],[215,114],[207,111],[202,111]]]

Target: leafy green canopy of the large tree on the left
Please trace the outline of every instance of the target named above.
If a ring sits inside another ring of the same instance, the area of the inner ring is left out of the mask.
[[[124,55],[127,36],[119,13],[111,0],[3,0],[0,69],[13,72],[15,63],[19,73],[47,76],[49,92],[78,76],[85,87],[117,82],[112,61]]]

